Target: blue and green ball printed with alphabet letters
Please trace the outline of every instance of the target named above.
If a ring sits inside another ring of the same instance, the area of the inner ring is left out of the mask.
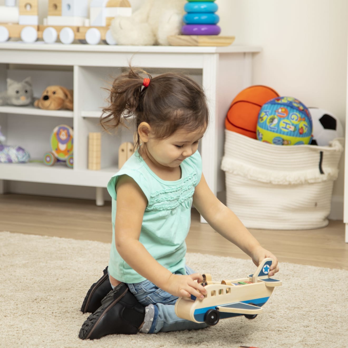
[[[277,97],[262,105],[256,129],[259,140],[276,145],[310,144],[313,122],[298,99]]]

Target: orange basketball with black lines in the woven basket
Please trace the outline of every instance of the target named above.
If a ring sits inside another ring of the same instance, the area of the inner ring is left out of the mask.
[[[267,86],[250,86],[238,93],[225,119],[228,130],[256,139],[256,125],[261,106],[279,94]]]

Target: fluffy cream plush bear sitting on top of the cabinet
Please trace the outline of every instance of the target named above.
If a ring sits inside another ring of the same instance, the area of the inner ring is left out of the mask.
[[[181,31],[187,0],[145,0],[132,16],[118,16],[111,33],[119,45],[169,45],[167,36]]]

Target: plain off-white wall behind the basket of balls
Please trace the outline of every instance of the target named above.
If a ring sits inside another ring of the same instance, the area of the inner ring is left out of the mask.
[[[346,123],[348,2],[346,0],[217,0],[222,35],[235,45],[260,45],[253,84],[318,106]],[[331,217],[343,217],[344,160]]]

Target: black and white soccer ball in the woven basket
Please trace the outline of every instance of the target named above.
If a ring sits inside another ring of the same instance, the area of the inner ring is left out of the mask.
[[[343,127],[340,120],[331,112],[309,108],[313,119],[313,139],[311,145],[327,146],[335,138],[343,136]]]

